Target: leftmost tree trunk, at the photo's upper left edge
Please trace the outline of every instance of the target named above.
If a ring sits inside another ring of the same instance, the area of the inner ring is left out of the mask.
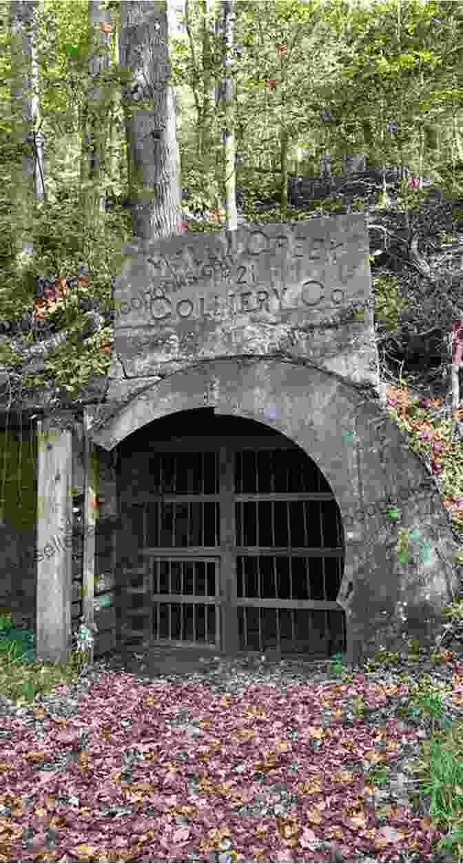
[[[11,134],[18,148],[11,168],[11,206],[19,270],[27,265],[34,251],[30,233],[34,202],[45,197],[39,100],[33,92],[38,79],[34,10],[40,9],[39,0],[10,3]]]

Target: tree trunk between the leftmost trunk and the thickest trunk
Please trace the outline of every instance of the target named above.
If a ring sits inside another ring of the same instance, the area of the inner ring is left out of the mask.
[[[109,10],[100,10],[98,0],[88,0],[88,28],[93,48],[109,46],[111,22]],[[98,83],[102,69],[109,67],[109,54],[89,54],[88,72]],[[101,191],[102,168],[105,162],[108,88],[89,89],[82,128],[82,159],[80,161],[81,206],[84,238],[104,226],[105,193]]]

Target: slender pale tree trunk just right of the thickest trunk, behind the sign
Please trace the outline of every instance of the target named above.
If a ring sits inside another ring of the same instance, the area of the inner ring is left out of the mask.
[[[233,91],[232,77],[227,75],[227,67],[231,65],[232,51],[232,0],[220,0],[220,37],[222,41],[222,67],[224,77],[221,80],[220,97],[224,101],[224,168],[225,168],[225,213],[226,226],[229,231],[238,227],[237,196],[235,189],[235,134],[232,130]]]

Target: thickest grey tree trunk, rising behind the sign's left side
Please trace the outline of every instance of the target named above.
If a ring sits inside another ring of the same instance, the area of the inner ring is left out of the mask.
[[[121,3],[119,59],[124,74],[130,206],[134,237],[177,232],[177,141],[174,89],[167,86],[168,2]]]

